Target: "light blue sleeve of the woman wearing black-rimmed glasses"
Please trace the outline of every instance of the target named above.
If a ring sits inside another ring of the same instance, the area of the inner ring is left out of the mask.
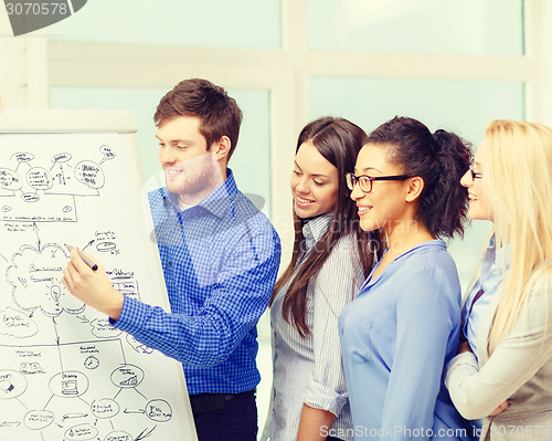
[[[394,440],[431,429],[452,333],[458,330],[458,293],[443,269],[426,266],[405,276],[396,303],[396,346],[382,412],[382,428],[401,428]],[[417,437],[416,440],[428,439]]]

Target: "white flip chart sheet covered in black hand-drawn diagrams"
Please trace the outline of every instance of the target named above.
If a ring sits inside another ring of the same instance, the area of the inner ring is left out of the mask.
[[[70,137],[46,157],[10,149],[13,136],[0,135],[2,440],[139,441],[179,433],[170,428],[179,418],[171,385],[157,371],[163,357],[61,283],[65,242],[96,256],[128,297],[140,300],[140,286],[149,283],[147,274],[138,276],[134,219],[123,202],[131,185],[120,174],[128,158],[116,139],[96,138],[71,149],[67,143],[81,138]]]

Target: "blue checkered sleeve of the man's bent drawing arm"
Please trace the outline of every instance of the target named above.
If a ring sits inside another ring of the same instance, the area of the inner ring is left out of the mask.
[[[183,364],[201,367],[221,364],[266,309],[279,258],[276,231],[272,227],[261,230],[229,253],[198,314],[168,313],[125,297],[120,317],[113,325]]]

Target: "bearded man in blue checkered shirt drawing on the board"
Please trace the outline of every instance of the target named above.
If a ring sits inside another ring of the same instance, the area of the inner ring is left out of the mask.
[[[153,116],[166,187],[149,195],[171,312],[125,297],[78,256],[63,283],[113,326],[182,363],[200,441],[254,441],[256,323],[279,265],[269,220],[226,167],[242,112],[206,80],[184,80]]]

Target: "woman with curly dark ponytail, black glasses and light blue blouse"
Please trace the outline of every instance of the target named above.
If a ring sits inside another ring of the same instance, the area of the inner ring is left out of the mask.
[[[455,134],[395,117],[370,134],[348,175],[362,230],[386,241],[339,318],[355,439],[470,439],[442,379],[461,302],[442,238],[463,233],[470,158]]]

